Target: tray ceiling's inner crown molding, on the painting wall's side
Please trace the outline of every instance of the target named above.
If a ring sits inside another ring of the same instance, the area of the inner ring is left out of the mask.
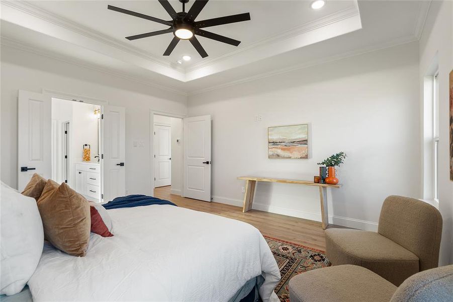
[[[286,39],[294,38],[296,36],[299,36],[301,34],[305,34],[310,31],[314,31],[323,27],[326,27],[328,25],[331,25],[333,23],[337,23],[340,21],[343,21],[348,18],[353,18],[359,16],[359,11],[358,8],[354,6],[347,7],[343,10],[340,10],[338,12],[332,13],[330,15],[324,16],[322,18],[319,18],[317,20],[307,22],[302,24],[301,26],[298,26],[294,29],[291,29],[289,31],[285,31],[284,33],[277,34],[274,36],[271,36],[269,38],[257,41],[255,43],[252,43],[248,46],[233,50],[231,52],[228,52],[226,54],[223,54],[221,56],[215,57],[215,58],[208,58],[205,59],[204,61],[194,64],[188,68],[186,68],[186,73],[195,71],[197,69],[201,69],[204,67],[207,67],[209,65],[213,65],[215,63],[218,63],[220,61],[226,60],[232,56],[235,56],[237,54],[252,50],[254,48],[263,46],[265,44],[271,44],[275,42],[282,42]]]

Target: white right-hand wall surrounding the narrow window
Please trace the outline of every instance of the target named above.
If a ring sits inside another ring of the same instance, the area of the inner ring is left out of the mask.
[[[438,62],[440,133],[439,133],[439,210],[443,218],[440,265],[453,263],[453,182],[449,180],[449,108],[448,79],[453,68],[453,3],[433,1],[419,43],[419,83],[423,89],[423,77],[433,60]],[[420,91],[420,107],[423,93]]]

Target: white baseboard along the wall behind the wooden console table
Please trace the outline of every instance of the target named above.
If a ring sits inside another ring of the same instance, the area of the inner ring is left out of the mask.
[[[228,198],[223,196],[212,196],[212,201],[220,202],[224,204],[234,205],[242,207],[243,200],[241,199],[234,199]],[[303,211],[303,210],[295,210],[275,205],[268,205],[262,203],[253,203],[253,209],[269,212],[269,213],[276,213],[286,216],[298,217],[303,219],[309,219],[314,221],[321,221],[321,213],[312,212],[312,211]],[[353,228],[358,230],[365,230],[365,231],[378,231],[378,223],[373,221],[367,220],[360,220],[355,218],[349,217],[342,217],[336,215],[328,215],[329,224],[337,224],[341,226],[346,226],[347,228]]]

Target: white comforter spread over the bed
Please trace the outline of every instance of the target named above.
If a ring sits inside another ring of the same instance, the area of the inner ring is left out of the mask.
[[[280,272],[250,224],[171,205],[109,210],[114,237],[92,234],[85,257],[45,246],[28,284],[33,300],[227,301],[264,277],[278,301]]]

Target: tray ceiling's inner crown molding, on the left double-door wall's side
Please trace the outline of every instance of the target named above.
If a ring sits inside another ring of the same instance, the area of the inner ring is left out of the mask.
[[[178,66],[174,67],[170,62],[162,60],[157,56],[154,56],[152,54],[149,54],[148,52],[142,51],[136,47],[131,46],[130,44],[120,42],[116,39],[111,38],[110,36],[107,36],[105,34],[98,32],[98,31],[95,31],[93,29],[80,25],[78,23],[72,22],[67,18],[63,18],[56,14],[50,13],[35,5],[32,5],[31,3],[26,3],[23,1],[2,1],[2,5],[11,7],[15,10],[21,11],[30,16],[33,16],[33,17],[39,18],[41,20],[50,22],[54,25],[63,27],[67,30],[70,30],[72,32],[85,36],[87,38],[95,39],[106,45],[115,47],[119,50],[125,51],[130,54],[136,55],[136,56],[141,57],[150,62],[159,64],[164,67],[171,68],[173,70],[178,70],[178,71],[184,73],[184,68],[182,68],[182,67],[178,67]]]

